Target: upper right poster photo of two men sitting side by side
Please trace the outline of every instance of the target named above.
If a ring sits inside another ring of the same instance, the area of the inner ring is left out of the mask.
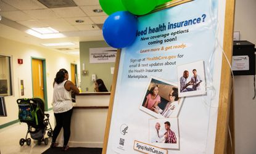
[[[180,65],[177,68],[179,97],[206,93],[203,61]]]

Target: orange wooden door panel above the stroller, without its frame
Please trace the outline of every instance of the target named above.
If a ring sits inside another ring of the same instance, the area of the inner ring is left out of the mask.
[[[33,97],[44,99],[43,60],[32,59]]]

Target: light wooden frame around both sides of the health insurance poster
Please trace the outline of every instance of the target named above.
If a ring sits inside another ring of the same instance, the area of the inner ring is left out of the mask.
[[[225,27],[223,38],[223,59],[221,67],[220,95],[218,103],[217,132],[215,137],[214,153],[234,153],[234,101],[232,95],[232,78],[229,64],[232,59],[233,30],[234,30],[234,0],[226,0]],[[167,6],[170,7],[170,6]],[[166,7],[166,8],[167,8]],[[162,7],[163,8],[163,7]],[[110,95],[109,113],[105,128],[105,137],[102,153],[107,153],[110,123],[114,107],[115,90],[117,87],[118,68],[120,64],[121,50],[117,51],[114,78]],[[228,129],[229,128],[229,129]],[[230,133],[229,133],[230,130]],[[231,134],[231,137],[228,135]],[[231,139],[231,140],[230,140]]]

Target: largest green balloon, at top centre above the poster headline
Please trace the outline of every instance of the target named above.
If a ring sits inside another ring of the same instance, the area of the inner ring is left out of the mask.
[[[144,15],[157,6],[157,0],[122,0],[126,9],[135,15]]]

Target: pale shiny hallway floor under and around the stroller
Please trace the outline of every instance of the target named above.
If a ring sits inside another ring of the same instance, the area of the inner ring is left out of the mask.
[[[52,129],[54,129],[54,115],[50,111],[50,123]],[[37,145],[36,140],[31,139],[31,145],[28,146],[26,143],[23,146],[20,146],[19,141],[21,138],[25,138],[27,133],[27,124],[26,123],[16,123],[12,126],[9,126],[4,129],[0,129],[0,153],[42,153],[47,148],[50,147],[51,137],[49,137],[49,144],[44,145],[42,142],[41,145]],[[28,135],[30,137],[30,135]],[[47,132],[46,132],[47,137]],[[31,137],[30,137],[31,138]]]

